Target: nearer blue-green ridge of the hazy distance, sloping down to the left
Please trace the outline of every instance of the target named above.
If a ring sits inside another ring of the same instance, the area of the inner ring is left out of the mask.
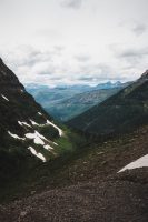
[[[57,102],[47,108],[47,112],[59,121],[67,121],[99,104],[110,95],[117,93],[120,88],[100,89],[76,94],[72,98]]]

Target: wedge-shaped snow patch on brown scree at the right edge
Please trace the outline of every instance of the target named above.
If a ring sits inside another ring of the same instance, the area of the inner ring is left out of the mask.
[[[129,163],[128,165],[126,165],[125,168],[122,168],[120,172],[124,172],[125,170],[131,170],[131,169],[137,169],[137,168],[148,168],[148,154],[144,155],[142,158]]]

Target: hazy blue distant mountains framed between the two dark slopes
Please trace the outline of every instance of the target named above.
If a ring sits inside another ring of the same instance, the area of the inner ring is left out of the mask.
[[[55,119],[67,121],[102,102],[128,84],[129,82],[118,81],[96,87],[61,85],[52,89],[47,85],[27,84],[26,89]]]

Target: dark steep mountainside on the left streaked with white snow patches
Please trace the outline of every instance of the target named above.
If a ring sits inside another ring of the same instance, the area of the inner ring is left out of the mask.
[[[0,175],[71,149],[67,134],[0,60]]]

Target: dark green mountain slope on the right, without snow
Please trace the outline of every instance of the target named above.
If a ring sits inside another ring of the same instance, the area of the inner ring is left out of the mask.
[[[144,123],[148,123],[148,71],[101,104],[68,121],[71,128],[96,135],[128,132]]]

